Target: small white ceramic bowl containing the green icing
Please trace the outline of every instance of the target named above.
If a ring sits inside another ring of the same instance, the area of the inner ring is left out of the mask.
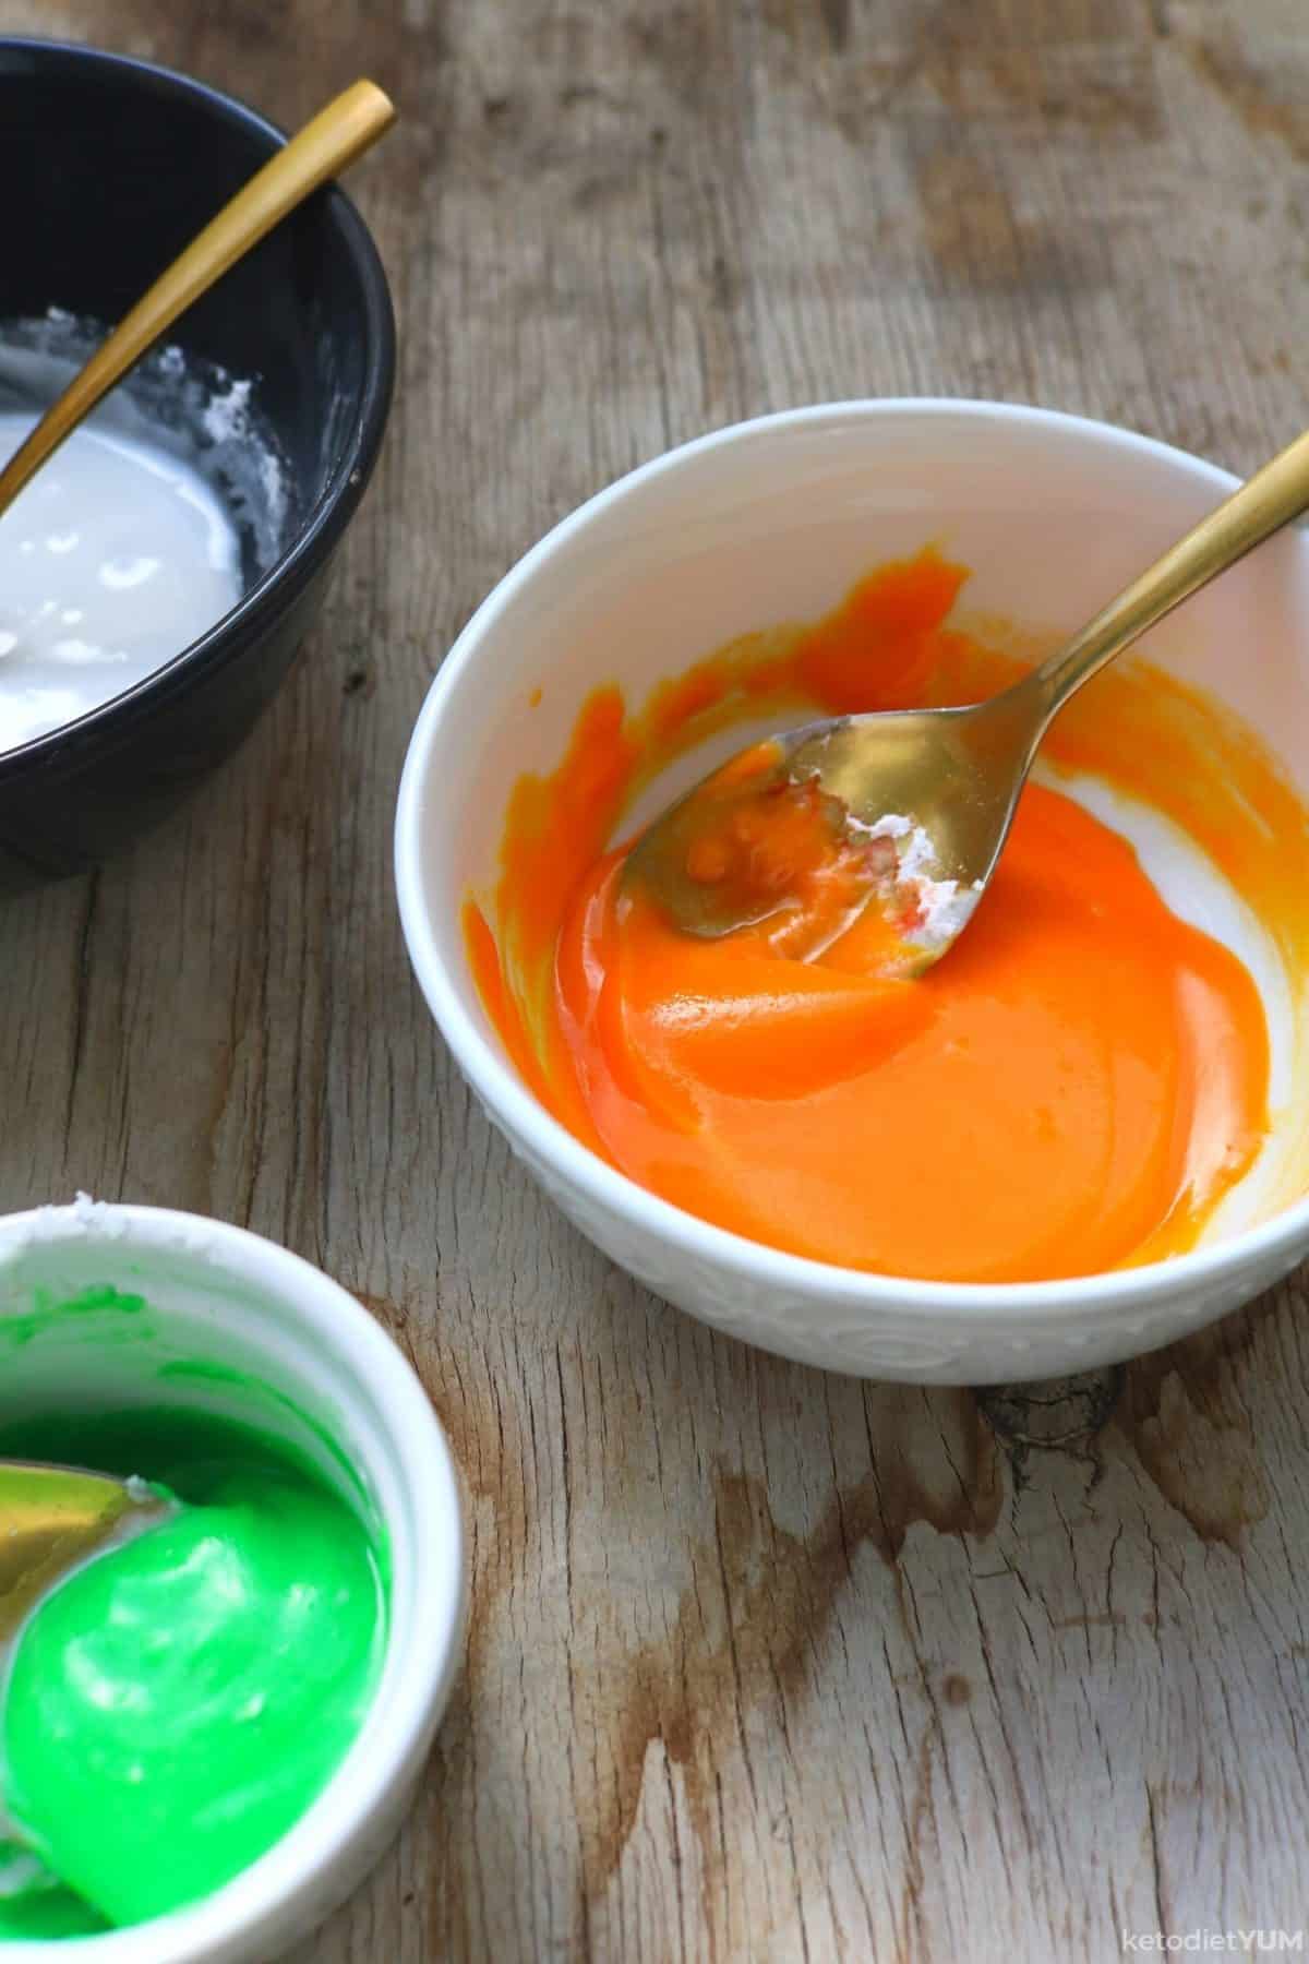
[[[77,1314],[4,1347],[4,1324],[110,1284],[135,1316]],[[208,1379],[186,1379],[186,1365]],[[183,1367],[159,1377],[165,1367]],[[222,1373],[273,1394],[224,1389]],[[275,1404],[281,1404],[275,1416]],[[412,1369],[359,1304],[298,1255],[239,1228],[159,1208],[41,1208],[0,1220],[0,1422],[43,1406],[177,1402],[283,1430],[332,1475],[314,1426],[345,1447],[391,1542],[391,1628],[373,1707],[306,1815],[251,1868],[188,1909],[59,1942],[67,1964],[245,1964],[320,1923],[363,1880],[408,1809],[457,1667],[465,1614],[459,1491]],[[300,1416],[296,1416],[300,1414]],[[308,1424],[302,1424],[306,1420]],[[147,1469],[143,1469],[147,1471]],[[0,1942],[49,1964],[47,1942]]]

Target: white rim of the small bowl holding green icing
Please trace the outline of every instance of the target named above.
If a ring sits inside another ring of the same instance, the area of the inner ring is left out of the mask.
[[[253,1956],[247,1944],[273,1940],[281,1946],[296,1929],[312,1927],[316,1899],[332,1893],[330,1866],[367,1846],[373,1821],[418,1770],[414,1754],[449,1699],[469,1609],[459,1475],[418,1373],[383,1326],[302,1255],[234,1222],[133,1202],[88,1204],[84,1196],[69,1206],[4,1214],[0,1279],[31,1247],[84,1249],[96,1241],[106,1255],[124,1259],[153,1251],[212,1261],[216,1277],[277,1296],[300,1330],[310,1337],[320,1334],[347,1357],[406,1471],[418,1555],[404,1640],[406,1654],[414,1650],[422,1658],[422,1669],[410,1665],[396,1673],[387,1703],[369,1707],[365,1726],[322,1793],[232,1882],[167,1915],[59,1944],[61,1954],[86,1964],[206,1964]],[[394,1636],[389,1628],[387,1654]],[[332,1903],[324,1901],[324,1913]],[[0,1952],[14,1964],[39,1964],[51,1954],[45,1938],[0,1942]]]

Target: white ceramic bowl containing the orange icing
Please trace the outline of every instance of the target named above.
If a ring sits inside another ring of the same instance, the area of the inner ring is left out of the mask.
[[[734,634],[814,619],[871,564],[926,540],[973,568],[969,611],[1066,630],[1232,485],[1183,452],[1048,410],[838,403],[657,458],[565,518],[477,611],[432,683],[400,786],[410,956],[491,1119],[583,1233],[650,1288],[785,1357],[977,1385],[1166,1343],[1305,1253],[1305,1202],[1168,1263],[1046,1284],[895,1281],[744,1241],[644,1192],[542,1110],[481,1009],[459,929],[465,892],[495,882],[510,782],[557,764],[595,683],[616,680],[638,703]],[[1193,599],[1148,654],[1234,707],[1309,791],[1303,532]]]

